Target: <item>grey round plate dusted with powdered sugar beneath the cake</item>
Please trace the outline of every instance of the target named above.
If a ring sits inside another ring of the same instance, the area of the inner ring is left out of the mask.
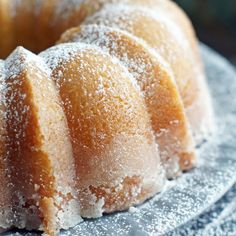
[[[140,206],[85,220],[61,235],[163,235],[202,213],[236,182],[236,73],[222,57],[205,46],[201,48],[218,132],[198,149],[198,168],[170,182],[165,192]],[[228,217],[233,215],[225,209],[221,219]],[[207,235],[214,235],[217,227],[214,229]]]

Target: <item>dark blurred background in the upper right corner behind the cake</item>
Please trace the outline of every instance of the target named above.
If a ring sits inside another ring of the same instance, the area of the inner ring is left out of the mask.
[[[199,39],[236,64],[236,0],[175,0]]]

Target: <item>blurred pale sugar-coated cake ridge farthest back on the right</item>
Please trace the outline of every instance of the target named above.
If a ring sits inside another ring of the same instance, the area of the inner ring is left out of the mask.
[[[143,38],[171,64],[184,101],[191,101],[186,102],[186,111],[195,141],[199,144],[214,129],[214,121],[211,118],[210,99],[206,95],[208,90],[204,84],[205,78],[201,66],[197,63],[192,45],[186,37],[186,32],[171,17],[166,17],[162,11],[122,3],[107,4],[84,22],[84,24],[95,23],[126,30]],[[152,25],[150,28],[154,31],[153,35],[148,30],[146,31],[148,24]],[[145,35],[140,31],[140,27],[143,27]],[[155,34],[155,31],[158,33]],[[179,69],[180,67],[182,70]],[[190,86],[189,89],[186,89],[188,86]],[[196,119],[203,116],[208,119],[201,121]]]

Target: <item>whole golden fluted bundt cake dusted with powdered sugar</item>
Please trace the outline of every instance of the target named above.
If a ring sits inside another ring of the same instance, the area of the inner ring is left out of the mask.
[[[213,112],[173,2],[0,0],[0,25],[0,228],[54,235],[195,166]]]

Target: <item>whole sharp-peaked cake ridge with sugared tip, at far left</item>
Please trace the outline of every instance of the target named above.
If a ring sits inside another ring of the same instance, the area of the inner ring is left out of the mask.
[[[47,231],[52,204],[45,202],[53,202],[58,214],[61,208],[70,209],[68,194],[75,197],[67,124],[54,83],[35,55],[18,48],[6,64],[5,158],[10,169],[12,205],[19,217],[14,225],[31,229],[42,224]],[[74,211],[79,214],[76,207]],[[49,228],[56,231],[63,219],[52,222],[54,227]]]

